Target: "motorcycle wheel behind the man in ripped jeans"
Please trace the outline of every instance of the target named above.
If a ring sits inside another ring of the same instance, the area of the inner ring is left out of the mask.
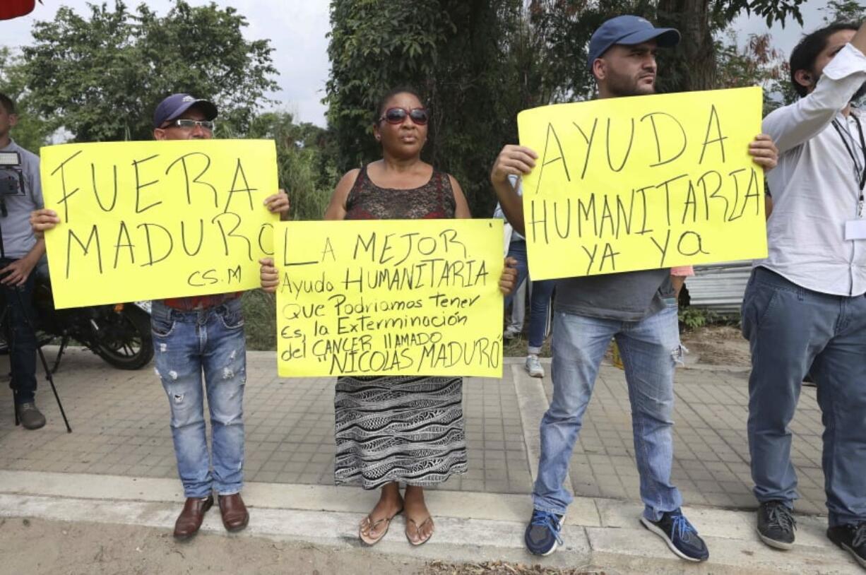
[[[111,313],[111,337],[101,338],[94,352],[107,364],[121,370],[141,369],[153,358],[151,316],[135,306],[126,306],[120,313]]]

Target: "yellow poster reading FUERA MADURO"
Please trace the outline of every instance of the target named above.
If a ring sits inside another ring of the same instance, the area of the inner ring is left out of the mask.
[[[160,140],[43,147],[45,234],[56,307],[259,286],[273,253],[264,200],[277,191],[269,140]]]

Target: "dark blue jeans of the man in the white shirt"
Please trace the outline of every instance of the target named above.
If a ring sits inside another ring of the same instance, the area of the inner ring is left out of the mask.
[[[743,297],[752,350],[749,451],[758,501],[797,499],[791,423],[806,373],[824,422],[830,527],[866,520],[866,296],[821,294],[755,268]]]

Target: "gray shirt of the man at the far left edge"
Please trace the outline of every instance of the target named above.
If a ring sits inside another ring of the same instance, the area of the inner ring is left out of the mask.
[[[30,229],[30,212],[42,208],[42,180],[39,178],[39,156],[28,152],[14,141],[0,152],[18,152],[24,176],[24,193],[20,196],[4,196],[8,215],[0,217],[3,229],[3,250],[6,257],[19,259],[33,249],[36,236]]]

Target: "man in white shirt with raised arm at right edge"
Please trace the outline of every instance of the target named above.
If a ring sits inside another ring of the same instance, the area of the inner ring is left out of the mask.
[[[866,88],[866,24],[834,24],[791,54],[801,98],[766,116],[779,146],[767,176],[769,255],[743,300],[752,350],[749,450],[763,541],[791,548],[797,476],[791,430],[806,373],[824,422],[827,536],[866,567],[866,156],[851,107]]]

